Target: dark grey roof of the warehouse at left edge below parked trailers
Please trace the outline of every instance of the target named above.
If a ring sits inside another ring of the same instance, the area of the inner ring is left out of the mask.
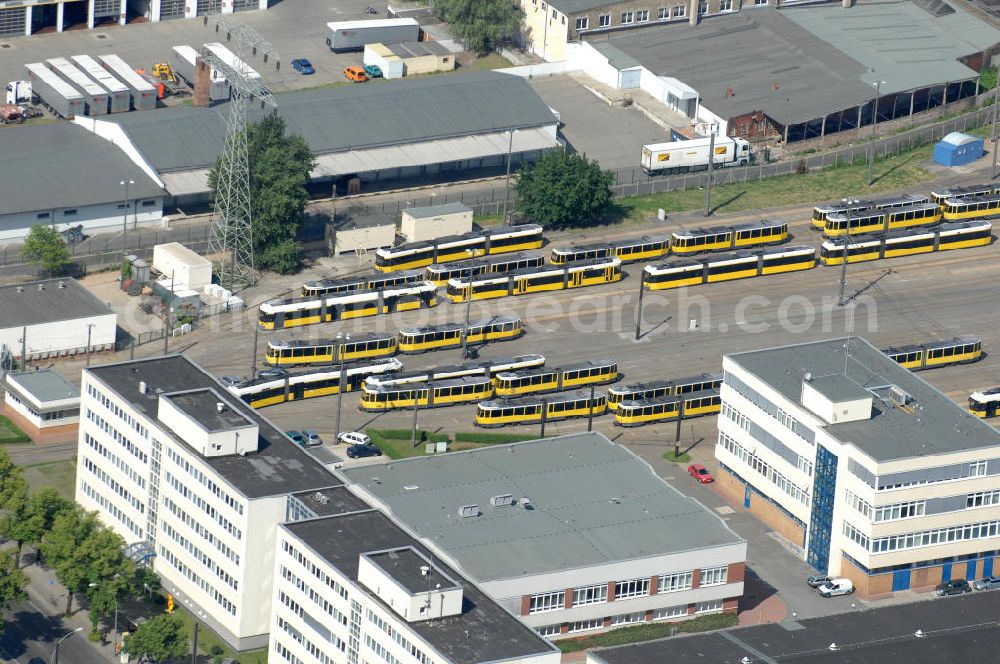
[[[70,122],[0,127],[0,145],[0,215],[122,201],[118,183],[128,179],[133,200],[165,193],[110,141]]]

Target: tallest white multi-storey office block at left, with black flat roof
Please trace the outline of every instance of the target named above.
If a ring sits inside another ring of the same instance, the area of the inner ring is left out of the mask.
[[[278,524],[363,506],[318,492],[338,482],[180,356],[85,369],[78,449],[77,502],[239,650],[267,643]]]

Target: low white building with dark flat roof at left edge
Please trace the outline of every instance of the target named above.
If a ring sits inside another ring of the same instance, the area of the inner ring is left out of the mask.
[[[24,360],[111,350],[118,315],[76,279],[0,286],[0,352]]]

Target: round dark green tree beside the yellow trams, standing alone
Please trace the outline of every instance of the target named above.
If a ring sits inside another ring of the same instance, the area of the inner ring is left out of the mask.
[[[551,228],[598,224],[611,205],[612,177],[586,155],[547,152],[534,165],[521,168],[518,209]]]

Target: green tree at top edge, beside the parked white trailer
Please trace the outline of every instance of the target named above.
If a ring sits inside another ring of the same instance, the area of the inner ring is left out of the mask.
[[[523,18],[511,0],[435,0],[434,11],[468,50],[477,53],[511,39]]]

